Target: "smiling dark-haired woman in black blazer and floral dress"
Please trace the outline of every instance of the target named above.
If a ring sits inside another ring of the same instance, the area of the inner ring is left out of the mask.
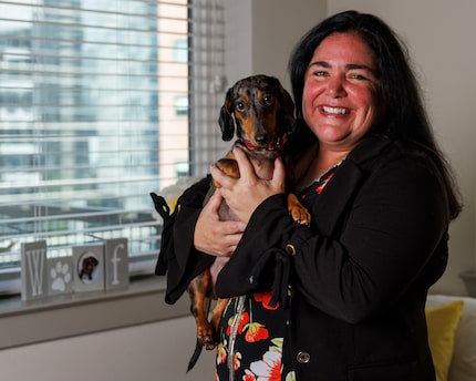
[[[169,291],[232,254],[216,285],[232,298],[219,380],[435,380],[425,299],[461,204],[404,50],[380,19],[342,12],[302,38],[290,74],[311,226],[288,215],[280,159],[261,181],[235,150],[240,179],[211,167],[211,202],[199,207],[205,182],[179,202]],[[221,197],[240,223],[217,222]]]

